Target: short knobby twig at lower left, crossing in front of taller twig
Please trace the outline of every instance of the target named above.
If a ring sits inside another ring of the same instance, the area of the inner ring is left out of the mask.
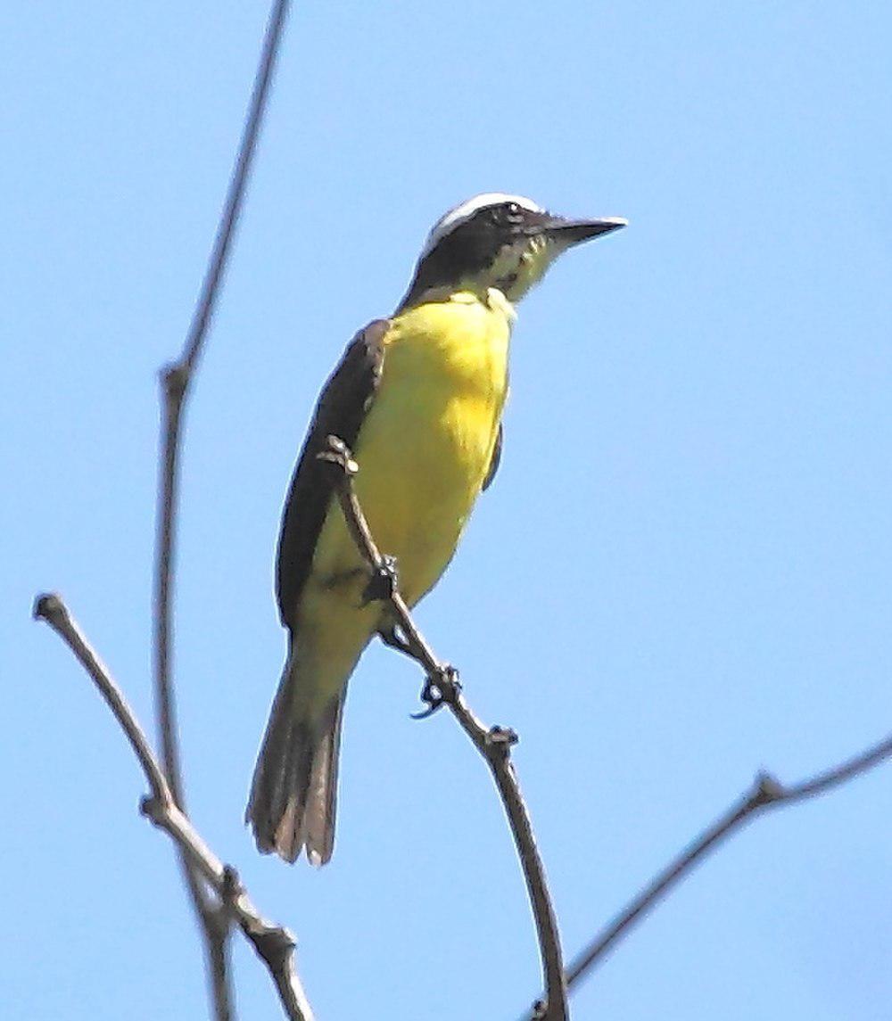
[[[183,858],[215,890],[227,913],[235,918],[266,964],[290,1021],[313,1021],[313,1011],[297,977],[293,935],[264,919],[238,881],[235,870],[220,861],[189,818],[177,807],[168,778],[145,731],[120,685],[96,654],[62,599],[53,594],[39,596],[34,604],[34,616],[46,621],[75,653],[127,736],[151,791],[148,797],[143,798],[143,815],[174,840]]]

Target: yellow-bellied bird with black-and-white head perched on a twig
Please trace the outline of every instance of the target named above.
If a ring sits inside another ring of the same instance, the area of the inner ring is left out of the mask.
[[[245,812],[262,853],[331,859],[347,681],[375,636],[395,638],[384,602],[366,597],[369,570],[319,458],[328,437],[353,451],[360,505],[412,607],[499,468],[514,306],[560,254],[625,225],[501,192],[462,202],[434,224],[392,315],[360,330],[326,382],[278,542],[287,659]]]

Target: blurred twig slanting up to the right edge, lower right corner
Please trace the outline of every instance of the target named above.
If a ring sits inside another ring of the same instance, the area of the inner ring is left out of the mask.
[[[801,783],[785,786],[768,773],[759,773],[752,787],[732,805],[729,810],[692,840],[678,857],[666,866],[633,901],[583,947],[567,968],[567,985],[579,980],[600,964],[616,942],[627,935],[682,879],[684,879],[711,850],[742,829],[748,822],[769,809],[795,805],[825,794],[835,787],[852,780],[885,760],[892,758],[892,735],[872,745],[852,759],[825,770]],[[525,1015],[526,1018],[529,1015]]]

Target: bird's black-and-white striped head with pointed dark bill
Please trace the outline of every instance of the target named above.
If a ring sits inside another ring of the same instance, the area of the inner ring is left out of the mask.
[[[490,287],[519,301],[561,252],[625,225],[556,216],[520,195],[476,195],[434,224],[401,308]]]

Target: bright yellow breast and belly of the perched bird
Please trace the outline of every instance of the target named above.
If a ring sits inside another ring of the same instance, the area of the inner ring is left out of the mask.
[[[410,605],[452,560],[486,477],[508,390],[509,337],[504,306],[459,294],[403,312],[385,338],[380,385],[354,450],[356,488],[378,547],[396,557]],[[362,566],[335,502],[299,613],[299,640],[325,665],[326,688],[337,674],[346,679],[380,620],[380,606],[359,609]]]

